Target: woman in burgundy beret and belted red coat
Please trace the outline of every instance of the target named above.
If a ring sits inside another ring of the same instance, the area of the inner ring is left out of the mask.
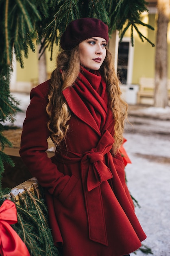
[[[146,238],[126,187],[126,103],[101,20],[71,22],[51,79],[33,88],[20,155],[46,189],[54,244],[63,256],[122,256]],[[47,157],[47,139],[55,156]]]

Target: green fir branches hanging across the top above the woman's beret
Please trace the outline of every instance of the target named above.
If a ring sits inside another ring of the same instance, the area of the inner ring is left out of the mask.
[[[131,26],[132,44],[133,29],[142,41],[151,43],[137,28],[140,24],[153,29],[140,20],[143,11],[148,11],[145,0],[1,0],[0,38],[4,40],[0,42],[0,60],[10,66],[14,49],[17,61],[24,67],[23,55],[28,57],[28,47],[35,51],[33,39],[42,43],[41,49],[50,47],[52,53],[67,25],[82,17],[103,20],[110,33],[113,29],[120,31],[120,39]]]

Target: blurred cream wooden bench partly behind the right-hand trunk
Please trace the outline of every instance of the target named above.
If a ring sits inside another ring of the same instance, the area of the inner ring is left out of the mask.
[[[137,103],[148,103],[153,105],[155,83],[153,78],[141,77],[139,79],[139,91],[137,92]],[[170,79],[168,80],[168,99],[170,99]]]

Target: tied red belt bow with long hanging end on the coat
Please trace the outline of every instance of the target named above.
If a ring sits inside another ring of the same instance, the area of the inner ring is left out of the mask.
[[[89,238],[103,245],[108,245],[108,241],[100,185],[113,177],[103,162],[105,154],[108,155],[108,159],[111,158],[109,151],[113,142],[114,139],[110,132],[105,130],[96,148],[85,152],[81,159],[81,177],[87,209]]]

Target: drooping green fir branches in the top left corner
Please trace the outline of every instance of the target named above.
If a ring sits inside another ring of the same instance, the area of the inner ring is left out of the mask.
[[[0,38],[1,42],[0,61],[8,66],[12,64],[13,49],[17,61],[24,67],[24,57],[28,57],[28,47],[33,52],[35,45],[33,38],[37,38],[36,22],[41,20],[38,6],[46,15],[47,1],[37,0],[1,0],[0,1]]]

